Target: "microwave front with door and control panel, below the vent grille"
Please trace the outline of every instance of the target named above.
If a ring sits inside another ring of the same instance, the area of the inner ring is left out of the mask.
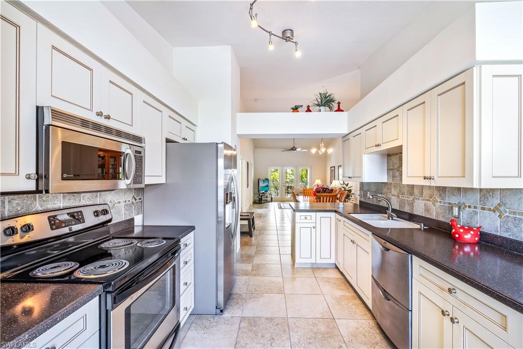
[[[56,126],[46,126],[46,136],[44,185],[49,193],[118,189],[143,182],[134,180],[143,173],[135,171],[143,164],[143,156],[135,158],[140,148]]]

